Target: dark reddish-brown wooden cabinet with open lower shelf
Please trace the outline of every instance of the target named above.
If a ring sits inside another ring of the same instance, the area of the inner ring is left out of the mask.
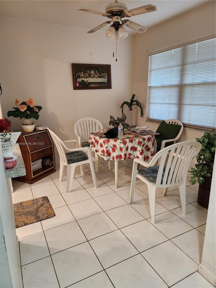
[[[54,145],[47,129],[22,132],[17,143],[19,143],[22,153],[26,175],[14,178],[16,181],[32,184],[56,171]],[[32,171],[31,163],[45,158],[52,161],[52,166],[42,164],[42,168]]]

